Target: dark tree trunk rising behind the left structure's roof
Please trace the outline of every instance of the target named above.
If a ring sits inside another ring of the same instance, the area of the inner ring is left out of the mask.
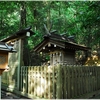
[[[26,28],[27,22],[26,22],[26,2],[21,1],[20,2],[20,28]],[[30,50],[28,48],[28,39],[23,39],[23,65],[28,66],[29,65],[29,59],[30,59]]]

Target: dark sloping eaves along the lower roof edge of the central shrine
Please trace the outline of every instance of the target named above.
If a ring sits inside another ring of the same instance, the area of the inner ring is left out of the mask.
[[[58,47],[62,49],[73,49],[75,51],[82,50],[82,51],[88,51],[91,48],[86,46],[81,46],[76,43],[72,42],[65,42],[65,41],[59,41],[58,39],[52,39],[52,38],[45,38],[40,44],[38,44],[35,48],[35,52],[41,52],[43,51],[43,47],[45,47],[48,43],[51,43],[53,45],[57,45]]]

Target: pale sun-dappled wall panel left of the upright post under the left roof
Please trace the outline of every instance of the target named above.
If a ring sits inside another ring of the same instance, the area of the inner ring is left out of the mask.
[[[17,88],[18,86],[18,67],[19,67],[19,41],[14,42],[14,49],[17,50],[16,53],[9,53],[8,55],[8,65],[9,71],[3,72],[2,83],[6,84],[7,87]]]

